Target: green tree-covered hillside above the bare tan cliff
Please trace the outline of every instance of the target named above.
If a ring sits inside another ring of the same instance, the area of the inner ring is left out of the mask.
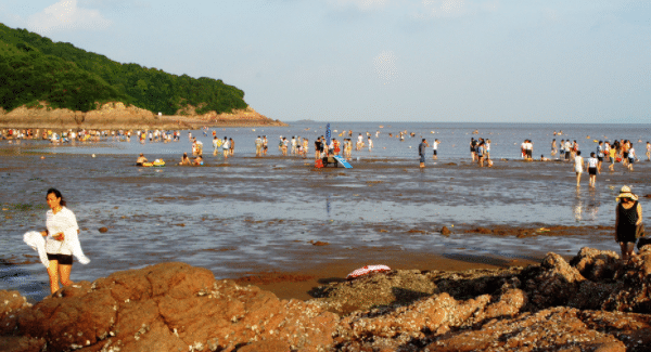
[[[82,112],[94,108],[95,102],[115,101],[166,115],[187,105],[197,107],[197,114],[247,106],[244,92],[221,80],[120,64],[0,24],[0,107],[11,110],[38,101]]]

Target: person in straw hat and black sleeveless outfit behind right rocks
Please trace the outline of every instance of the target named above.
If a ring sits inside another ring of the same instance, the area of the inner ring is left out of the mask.
[[[615,240],[622,248],[622,259],[626,261],[635,257],[636,230],[642,223],[642,206],[628,186],[622,187],[616,199],[620,203],[615,210]]]

